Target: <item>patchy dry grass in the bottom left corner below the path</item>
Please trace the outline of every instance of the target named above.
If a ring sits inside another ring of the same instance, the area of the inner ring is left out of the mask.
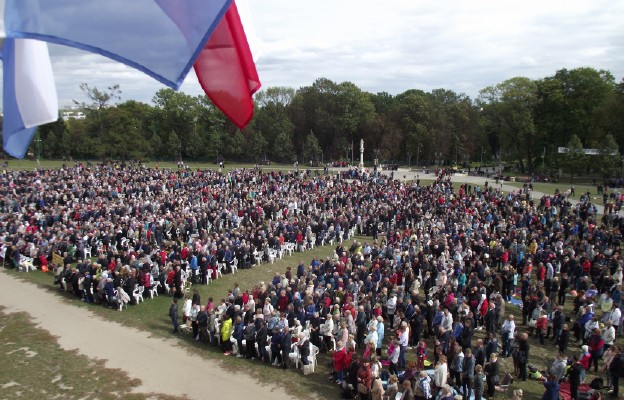
[[[140,382],[121,370],[104,367],[61,348],[56,338],[25,313],[0,309],[0,397],[3,399],[174,400],[163,394],[131,393]]]

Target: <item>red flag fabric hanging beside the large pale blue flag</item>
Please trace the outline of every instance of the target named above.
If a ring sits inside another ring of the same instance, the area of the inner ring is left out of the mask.
[[[252,95],[260,89],[260,79],[234,2],[193,67],[206,95],[245,128],[253,117]]]

